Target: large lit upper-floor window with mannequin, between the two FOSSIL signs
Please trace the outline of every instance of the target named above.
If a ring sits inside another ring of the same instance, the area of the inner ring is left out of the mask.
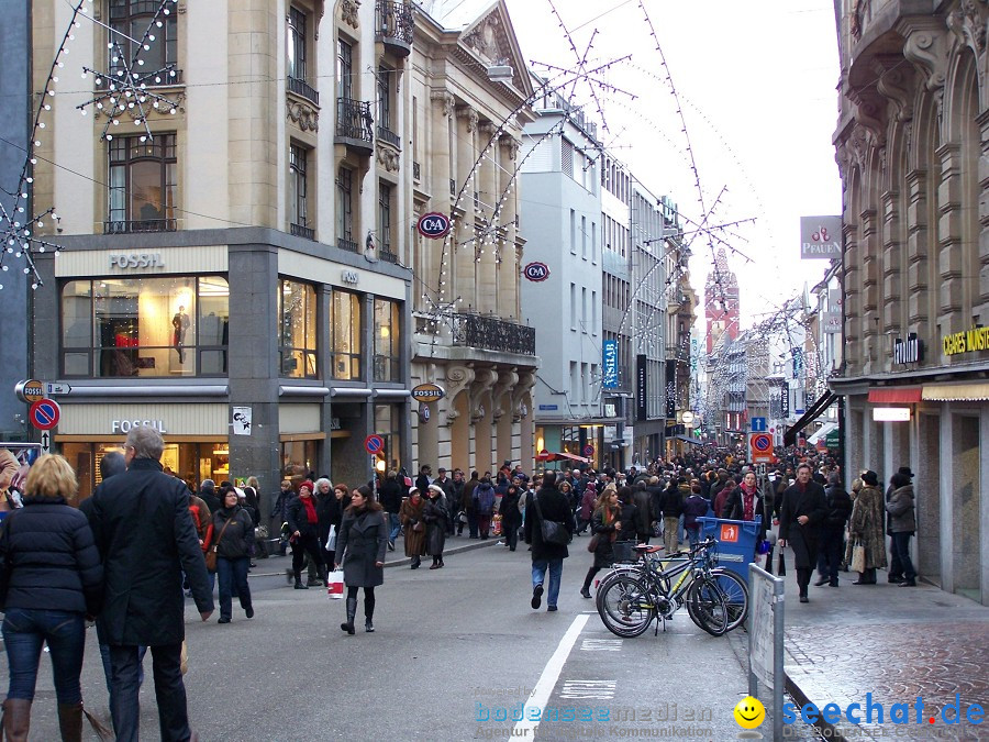
[[[62,365],[71,377],[226,374],[225,278],[70,280],[62,288]]]

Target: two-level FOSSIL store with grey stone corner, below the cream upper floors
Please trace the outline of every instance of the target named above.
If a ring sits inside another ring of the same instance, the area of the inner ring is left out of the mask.
[[[162,432],[163,465],[190,485],[366,480],[373,432],[390,466],[408,462],[408,281],[358,261],[259,243],[43,261],[57,289],[35,295],[33,368],[71,387],[54,443],[80,497],[135,424]]]

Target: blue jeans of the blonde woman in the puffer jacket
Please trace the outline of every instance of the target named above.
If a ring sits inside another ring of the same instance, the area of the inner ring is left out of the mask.
[[[82,700],[79,674],[86,649],[86,621],[82,613],[64,610],[8,608],[3,618],[3,642],[10,668],[8,698],[34,700],[42,642],[52,654],[55,696],[59,704]]]

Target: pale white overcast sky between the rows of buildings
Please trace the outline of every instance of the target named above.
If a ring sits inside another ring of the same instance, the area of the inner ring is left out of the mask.
[[[800,259],[800,217],[841,213],[831,144],[840,75],[831,0],[507,4],[526,62],[544,77],[558,73],[538,63],[577,68],[568,36],[584,57],[597,31],[587,69],[632,55],[594,75],[623,91],[594,86],[608,131],[590,82],[577,84],[571,102],[598,121],[612,155],[631,164],[654,195],[669,195],[686,218],[701,222],[710,211],[709,224],[744,221],[713,232],[730,245],[743,328],[821,280],[827,262]],[[713,264],[710,240],[686,236],[691,283],[702,297]]]

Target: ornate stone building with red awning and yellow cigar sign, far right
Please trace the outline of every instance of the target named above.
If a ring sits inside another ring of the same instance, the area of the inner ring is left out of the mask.
[[[989,603],[989,8],[841,11],[846,469],[909,466],[921,577]]]

